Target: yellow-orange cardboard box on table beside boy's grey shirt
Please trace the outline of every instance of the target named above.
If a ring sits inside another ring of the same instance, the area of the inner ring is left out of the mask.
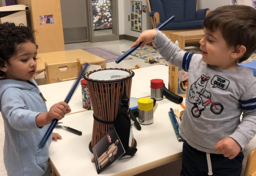
[[[173,94],[186,97],[188,77],[187,72],[169,64],[169,91]]]

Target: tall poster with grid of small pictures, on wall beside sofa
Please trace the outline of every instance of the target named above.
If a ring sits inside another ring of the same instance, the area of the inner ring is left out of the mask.
[[[142,32],[141,1],[131,1],[131,30]]]

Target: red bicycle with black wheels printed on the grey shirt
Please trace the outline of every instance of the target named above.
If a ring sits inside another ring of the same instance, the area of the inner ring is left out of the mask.
[[[202,95],[202,94],[200,94],[200,95]],[[204,96],[204,95],[202,95],[202,96]],[[204,96],[204,97],[207,98],[206,96]],[[204,109],[200,109],[200,110],[199,110],[197,104],[196,104],[196,103],[193,103],[193,104],[194,104],[195,106],[192,107],[191,113],[192,113],[192,115],[193,115],[194,117],[198,118],[198,117],[200,117],[200,115],[201,115],[201,113],[202,113],[202,111],[203,111]],[[211,100],[211,98],[208,98],[208,100],[206,100],[205,102],[203,102],[203,105],[204,105],[205,107],[208,106],[209,104],[211,104],[210,110],[211,110],[212,113],[214,113],[214,114],[221,114],[221,113],[222,113],[224,107],[223,107],[223,105],[222,105],[221,103],[213,102],[213,101]]]

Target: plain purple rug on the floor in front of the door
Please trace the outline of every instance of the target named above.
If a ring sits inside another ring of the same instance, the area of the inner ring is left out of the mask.
[[[91,54],[94,54],[96,56],[99,56],[103,59],[106,59],[106,62],[113,62],[116,59],[118,59],[122,54],[119,54],[117,52],[111,51],[106,48],[99,48],[99,47],[94,47],[94,48],[86,48],[83,49],[84,51],[90,52]],[[131,59],[129,56],[126,59]]]

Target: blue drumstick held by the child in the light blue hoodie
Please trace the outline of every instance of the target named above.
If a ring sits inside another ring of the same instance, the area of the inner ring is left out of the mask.
[[[85,72],[85,70],[86,70],[86,68],[87,68],[88,65],[89,65],[88,63],[85,63],[85,64],[84,64],[84,67],[83,67],[83,69],[81,70],[81,72],[79,73],[79,76],[78,76],[76,82],[74,83],[73,87],[72,87],[71,90],[69,91],[69,94],[67,94],[67,97],[66,97],[66,99],[64,100],[65,103],[69,103],[69,100],[70,100],[71,96],[73,95],[74,91],[76,90],[77,85],[78,85],[78,83],[79,83],[79,81],[80,81],[80,78],[83,76],[83,74],[84,74],[84,72]],[[50,124],[50,126],[49,126],[49,128],[47,129],[45,135],[43,136],[43,139],[41,140],[41,142],[40,142],[40,144],[39,144],[39,146],[38,146],[39,148],[43,148],[43,146],[45,145],[45,142],[46,142],[47,139],[49,138],[49,136],[50,136],[50,134],[52,133],[54,127],[55,127],[56,124],[57,124],[57,122],[58,122],[57,119],[54,119],[54,120],[52,121],[52,123]]]

